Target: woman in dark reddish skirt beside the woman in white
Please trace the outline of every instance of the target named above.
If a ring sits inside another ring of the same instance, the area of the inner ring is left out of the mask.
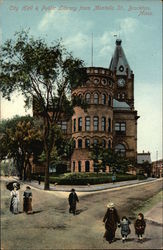
[[[32,191],[29,186],[26,187],[23,195],[23,211],[27,214],[32,212]]]

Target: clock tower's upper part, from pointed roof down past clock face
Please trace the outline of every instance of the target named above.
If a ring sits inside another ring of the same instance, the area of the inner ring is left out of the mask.
[[[118,101],[126,102],[131,108],[134,108],[134,74],[121,43],[120,39],[116,40],[116,48],[109,66],[116,82],[114,86],[114,98]]]

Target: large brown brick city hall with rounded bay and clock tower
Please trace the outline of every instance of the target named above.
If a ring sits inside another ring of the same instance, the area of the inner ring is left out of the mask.
[[[86,112],[75,107],[71,119],[61,121],[61,128],[74,139],[72,172],[94,171],[90,146],[98,142],[127,158],[137,158],[139,117],[134,109],[134,74],[121,43],[116,40],[108,68],[88,67],[86,84],[72,91],[72,96],[89,104]]]

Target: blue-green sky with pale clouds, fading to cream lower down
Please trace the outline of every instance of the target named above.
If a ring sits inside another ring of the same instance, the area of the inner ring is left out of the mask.
[[[30,29],[48,44],[60,38],[74,57],[91,66],[108,68],[115,40],[135,75],[138,152],[162,158],[162,3],[160,0],[0,0],[3,43],[14,33]],[[10,102],[1,98],[2,119],[32,114],[18,93]]]

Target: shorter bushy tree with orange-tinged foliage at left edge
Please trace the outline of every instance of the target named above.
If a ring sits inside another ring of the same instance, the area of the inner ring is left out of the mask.
[[[13,158],[20,179],[26,179],[27,172],[31,178],[32,155],[40,153],[42,144],[41,131],[34,125],[30,116],[16,116],[13,119],[3,120],[0,124],[2,143],[0,158]],[[24,176],[23,176],[24,175]]]

